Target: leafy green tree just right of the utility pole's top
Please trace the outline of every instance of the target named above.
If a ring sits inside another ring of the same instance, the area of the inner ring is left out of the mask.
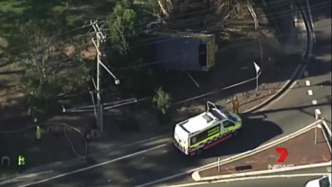
[[[107,25],[110,32],[111,45],[121,55],[127,54],[129,41],[134,37],[134,25],[136,12],[131,0],[121,0],[117,2],[112,14],[107,16]]]

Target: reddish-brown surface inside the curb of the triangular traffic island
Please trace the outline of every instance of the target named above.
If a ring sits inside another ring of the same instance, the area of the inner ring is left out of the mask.
[[[282,163],[277,162],[280,154],[276,152],[276,148],[285,148],[289,152],[289,155]],[[294,166],[299,166],[322,163],[330,160],[331,152],[324,138],[323,131],[317,131],[317,144],[315,144],[315,129],[312,129],[254,155],[220,165],[220,172],[218,172],[217,167],[214,167],[200,171],[199,174],[203,178],[268,170],[269,165],[274,164],[292,164]],[[244,170],[239,170],[241,168]]]

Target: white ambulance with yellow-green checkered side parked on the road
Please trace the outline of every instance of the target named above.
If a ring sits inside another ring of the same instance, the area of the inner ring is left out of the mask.
[[[207,101],[205,112],[175,124],[174,145],[186,155],[200,155],[203,150],[237,136],[241,128],[239,115],[222,111]]]

